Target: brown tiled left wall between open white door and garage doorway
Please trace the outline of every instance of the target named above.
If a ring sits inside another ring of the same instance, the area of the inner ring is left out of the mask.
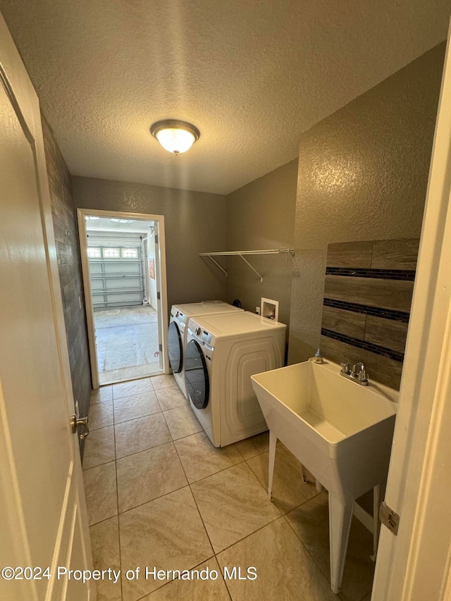
[[[72,182],[53,132],[44,116],[42,116],[42,130],[44,133],[47,173],[49,175],[51,212],[54,222],[61,296],[63,297],[64,322],[68,340],[70,376],[72,377],[74,400],[78,400],[80,415],[85,416],[89,411],[91,367],[89,364],[85,299],[82,291],[80,249],[73,206]]]

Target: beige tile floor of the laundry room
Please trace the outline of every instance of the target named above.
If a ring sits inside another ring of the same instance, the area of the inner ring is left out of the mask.
[[[295,457],[279,445],[274,502],[266,496],[268,434],[215,449],[172,376],[92,394],[83,473],[98,600],[328,601],[328,499],[302,484]],[[354,519],[339,598],[369,601],[372,536]],[[125,578],[145,566],[206,569],[216,580]],[[255,580],[222,578],[240,566]]]

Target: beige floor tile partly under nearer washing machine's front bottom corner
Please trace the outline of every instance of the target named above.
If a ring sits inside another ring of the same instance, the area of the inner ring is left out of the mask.
[[[180,438],[174,444],[190,483],[243,461],[235,445],[216,449],[204,432]]]

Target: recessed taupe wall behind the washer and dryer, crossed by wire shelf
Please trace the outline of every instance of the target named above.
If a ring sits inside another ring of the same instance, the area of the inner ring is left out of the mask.
[[[297,159],[235,190],[227,197],[227,249],[292,248],[295,229]],[[248,311],[261,297],[279,301],[279,321],[290,324],[292,258],[287,254],[249,256],[264,280],[240,257],[227,259],[227,299]]]

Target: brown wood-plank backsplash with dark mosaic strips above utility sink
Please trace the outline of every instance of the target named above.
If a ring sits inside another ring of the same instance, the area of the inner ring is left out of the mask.
[[[400,388],[419,239],[328,245],[321,350]]]

